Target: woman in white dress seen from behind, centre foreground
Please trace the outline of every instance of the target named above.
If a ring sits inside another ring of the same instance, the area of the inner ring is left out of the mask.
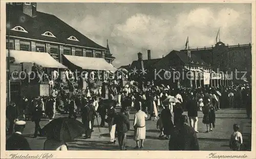
[[[141,102],[136,106],[137,112],[134,117],[134,140],[136,141],[136,149],[143,148],[144,140],[146,139],[146,121],[147,115],[141,110]],[[141,146],[139,142],[141,141]]]

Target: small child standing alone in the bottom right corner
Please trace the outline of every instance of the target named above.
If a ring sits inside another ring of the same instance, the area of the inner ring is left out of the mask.
[[[241,145],[243,144],[243,137],[242,133],[239,132],[239,125],[234,124],[233,125],[234,132],[231,134],[231,138],[229,141],[229,147],[233,151],[240,151]]]

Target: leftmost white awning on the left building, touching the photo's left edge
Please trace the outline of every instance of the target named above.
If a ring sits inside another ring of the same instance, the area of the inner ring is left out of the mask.
[[[8,50],[6,50],[8,57]],[[67,67],[56,61],[50,54],[41,52],[10,50],[10,57],[15,59],[14,63],[36,63],[42,67],[66,69]]]

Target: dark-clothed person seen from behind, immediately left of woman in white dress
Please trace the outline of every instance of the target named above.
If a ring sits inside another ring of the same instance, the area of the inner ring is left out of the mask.
[[[115,117],[113,122],[114,125],[116,124],[117,139],[120,150],[126,150],[126,133],[130,130],[130,121],[124,111],[124,109],[121,109],[120,114]]]

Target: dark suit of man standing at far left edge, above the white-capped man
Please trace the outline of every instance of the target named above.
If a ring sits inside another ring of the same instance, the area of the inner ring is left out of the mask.
[[[13,125],[14,125],[14,120],[18,119],[19,111],[17,106],[11,106],[9,105],[6,108],[6,118],[9,120],[9,128],[8,132],[12,134],[13,132]]]

